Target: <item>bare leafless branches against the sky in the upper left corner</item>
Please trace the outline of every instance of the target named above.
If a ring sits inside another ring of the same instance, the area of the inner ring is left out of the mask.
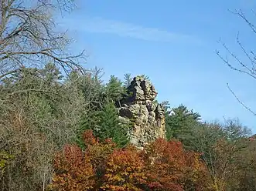
[[[79,55],[65,51],[65,32],[56,32],[53,12],[68,8],[69,0],[2,0],[0,2],[0,80],[24,66],[55,62],[65,72],[80,69]]]

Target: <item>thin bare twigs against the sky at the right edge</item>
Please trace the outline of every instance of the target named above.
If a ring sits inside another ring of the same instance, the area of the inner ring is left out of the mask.
[[[241,9],[235,10],[234,12],[231,12],[231,13],[234,15],[237,15],[238,18],[241,18],[242,21],[244,21],[247,24],[247,26],[249,27],[251,32],[253,32],[253,34],[256,35],[256,25],[249,20],[248,16],[245,15],[245,13]],[[251,13],[255,14],[255,12],[253,10],[251,10]],[[219,43],[222,45],[224,50],[227,52],[227,55],[229,55],[230,57],[221,55],[219,51],[216,51],[217,55],[220,57],[220,59],[222,59],[222,61],[224,61],[224,63],[228,67],[230,67],[230,69],[232,69],[236,72],[241,72],[242,74],[248,75],[251,78],[256,79],[256,53],[251,49],[247,49],[243,45],[243,43],[241,42],[239,32],[237,32],[236,41],[237,41],[238,47],[241,49],[241,56],[232,52],[230,50],[230,48],[221,40],[219,41]],[[241,57],[244,59],[241,59]],[[232,61],[230,61],[229,58]],[[254,112],[253,109],[251,109],[249,106],[246,106],[244,104],[244,102],[242,102],[241,99],[238,98],[238,96],[235,94],[235,92],[232,89],[230,89],[230,86],[228,84],[227,84],[227,88],[234,95],[234,97],[237,99],[237,101],[242,106],[244,106],[245,109],[247,109],[254,116],[256,116],[256,112]]]

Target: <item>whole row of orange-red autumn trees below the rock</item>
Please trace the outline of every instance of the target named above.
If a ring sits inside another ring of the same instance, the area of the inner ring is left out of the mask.
[[[119,149],[87,131],[84,143],[84,152],[69,145],[56,154],[49,190],[207,190],[200,155],[186,152],[181,142],[157,139],[144,150]]]

